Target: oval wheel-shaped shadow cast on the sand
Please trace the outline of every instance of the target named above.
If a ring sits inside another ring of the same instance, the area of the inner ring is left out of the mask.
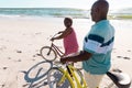
[[[46,67],[45,67],[46,66]],[[45,68],[44,68],[45,67]],[[24,76],[24,79],[28,82],[36,81],[41,78],[44,78],[50,69],[52,69],[53,63],[52,62],[40,62],[36,65],[32,66]]]

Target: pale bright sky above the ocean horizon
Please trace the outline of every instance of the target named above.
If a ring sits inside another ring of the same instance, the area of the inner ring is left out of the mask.
[[[0,8],[90,9],[96,0],[0,0]],[[132,0],[108,0],[110,9],[132,8]]]

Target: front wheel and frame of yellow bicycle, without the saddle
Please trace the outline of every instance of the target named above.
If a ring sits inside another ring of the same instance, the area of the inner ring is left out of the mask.
[[[50,88],[88,88],[82,74],[70,64],[53,67],[47,74]]]

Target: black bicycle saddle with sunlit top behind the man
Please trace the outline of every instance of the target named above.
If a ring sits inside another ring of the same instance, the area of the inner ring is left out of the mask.
[[[119,88],[130,88],[131,78],[128,74],[124,73],[110,73],[108,72],[107,75],[112,79],[112,81]]]

